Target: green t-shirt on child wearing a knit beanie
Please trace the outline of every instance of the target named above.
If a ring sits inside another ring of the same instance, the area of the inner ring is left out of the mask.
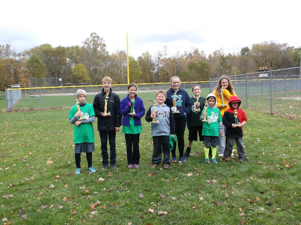
[[[91,104],[86,103],[85,106],[79,107],[80,111],[83,114],[87,113],[85,116],[87,118],[91,116],[95,116],[94,108]],[[72,119],[73,116],[76,114],[77,108],[76,105],[70,109],[69,119]],[[74,143],[79,144],[83,142],[93,143],[94,142],[94,129],[92,123],[81,123],[79,126],[74,124]]]

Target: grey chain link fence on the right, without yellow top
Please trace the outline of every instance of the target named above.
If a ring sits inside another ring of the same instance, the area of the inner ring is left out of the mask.
[[[301,119],[301,67],[229,76],[241,106]],[[219,78],[209,80],[213,92]]]

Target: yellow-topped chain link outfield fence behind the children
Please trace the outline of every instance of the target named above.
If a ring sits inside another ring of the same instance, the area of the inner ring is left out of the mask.
[[[198,83],[204,93],[209,93],[209,81],[206,82],[182,82],[181,88],[191,94],[191,87]],[[157,90],[168,90],[170,83],[137,84],[138,95],[141,92],[152,92],[151,97],[144,101],[154,100]],[[93,103],[94,96],[101,92],[101,85],[94,86],[60,86],[60,87],[34,87],[21,89],[5,89],[6,111],[20,111],[39,108],[72,107],[76,100],[76,91],[84,89],[87,93],[87,102]],[[113,92],[122,96],[127,95],[127,84],[113,85]],[[207,94],[206,94],[207,95]],[[206,96],[205,95],[205,96]],[[152,99],[151,99],[152,98]]]

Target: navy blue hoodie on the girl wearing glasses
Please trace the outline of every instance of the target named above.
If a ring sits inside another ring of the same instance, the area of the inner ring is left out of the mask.
[[[169,107],[172,108],[173,107],[173,97],[172,95],[175,93],[175,90],[170,88],[166,94],[167,94],[167,98],[165,100],[165,104]],[[176,99],[176,107],[177,110],[180,111],[180,113],[174,113],[173,116],[175,117],[175,119],[180,119],[183,118],[186,120],[186,117],[189,115],[190,111],[191,111],[191,102],[190,102],[190,97],[188,95],[188,93],[179,88],[179,90],[177,91],[177,99]],[[186,116],[185,116],[185,114]]]

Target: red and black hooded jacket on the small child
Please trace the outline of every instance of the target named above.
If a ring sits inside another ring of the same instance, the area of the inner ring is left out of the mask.
[[[244,112],[244,110],[240,109],[240,99],[237,96],[231,96],[229,98],[229,106],[230,108],[227,109],[224,113],[223,116],[223,124],[226,127],[226,132],[225,136],[226,137],[242,137],[243,135],[243,128],[242,127],[236,127],[233,128],[232,124],[235,123],[235,118],[234,118],[234,109],[231,107],[231,103],[233,102],[238,102],[238,107],[237,107],[237,117],[238,117],[238,122],[241,123],[242,121],[248,121],[247,116]]]

